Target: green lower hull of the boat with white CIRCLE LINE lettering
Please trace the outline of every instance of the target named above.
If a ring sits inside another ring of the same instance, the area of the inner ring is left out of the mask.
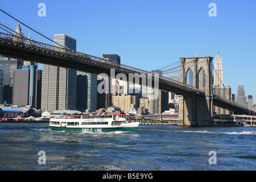
[[[114,131],[127,131],[136,133],[138,127],[109,127],[109,128],[72,128],[72,127],[55,127],[50,126],[51,130],[57,131],[83,131],[83,132],[93,132],[93,133],[101,133],[101,132],[114,132]]]

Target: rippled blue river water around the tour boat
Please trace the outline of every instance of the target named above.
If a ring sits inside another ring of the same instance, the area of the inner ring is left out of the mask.
[[[256,135],[245,127],[140,125],[137,134],[51,131],[0,123],[0,170],[255,170]],[[39,151],[46,164],[38,163]],[[216,151],[217,164],[209,164]]]

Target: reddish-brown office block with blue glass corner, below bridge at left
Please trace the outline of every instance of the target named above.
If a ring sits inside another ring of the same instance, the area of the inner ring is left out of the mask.
[[[31,106],[41,109],[42,71],[35,65],[23,66],[14,70],[13,105]]]

